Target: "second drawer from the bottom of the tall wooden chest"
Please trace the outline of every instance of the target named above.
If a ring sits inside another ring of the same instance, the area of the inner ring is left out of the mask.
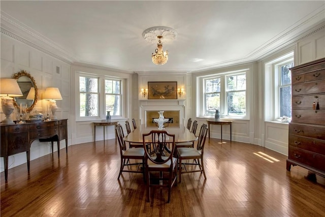
[[[289,135],[289,146],[301,148],[325,156],[325,140]]]

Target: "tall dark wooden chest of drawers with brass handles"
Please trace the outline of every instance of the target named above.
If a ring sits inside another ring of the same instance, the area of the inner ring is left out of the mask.
[[[290,70],[292,119],[286,169],[301,166],[325,176],[325,58]]]

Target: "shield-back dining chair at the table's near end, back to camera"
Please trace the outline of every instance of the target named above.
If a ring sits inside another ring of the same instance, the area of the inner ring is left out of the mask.
[[[167,131],[152,130],[142,135],[143,147],[148,141],[152,144],[153,154],[146,148],[144,155],[147,201],[150,202],[150,189],[168,188],[168,203],[173,185],[177,185],[177,158],[174,157],[175,134]]]

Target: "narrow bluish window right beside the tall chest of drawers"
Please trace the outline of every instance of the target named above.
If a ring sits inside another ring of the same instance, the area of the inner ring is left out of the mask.
[[[289,68],[294,67],[294,62],[277,65],[278,70],[278,112],[280,117],[291,117],[291,71]]]

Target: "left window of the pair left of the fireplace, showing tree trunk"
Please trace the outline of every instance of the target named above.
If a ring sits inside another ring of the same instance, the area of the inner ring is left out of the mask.
[[[99,111],[99,92],[98,78],[80,76],[80,117],[98,116]]]

